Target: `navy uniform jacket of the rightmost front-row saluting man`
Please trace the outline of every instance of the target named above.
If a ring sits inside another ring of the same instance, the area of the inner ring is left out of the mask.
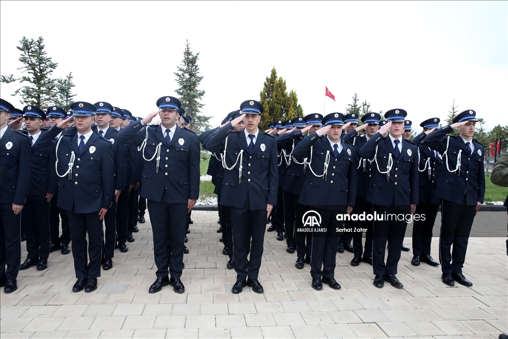
[[[435,149],[443,155],[443,170],[437,184],[436,196],[460,204],[465,195],[467,205],[476,205],[478,201],[483,203],[485,196],[485,147],[472,139],[474,150],[472,155],[468,155],[466,144],[459,135],[456,137],[446,136],[452,131],[450,125],[444,126],[432,132],[423,141],[425,146]],[[445,156],[448,138],[450,138],[450,143],[447,156]],[[449,172],[445,161],[448,158],[448,167],[452,171],[455,170],[459,151],[461,151],[460,172]]]

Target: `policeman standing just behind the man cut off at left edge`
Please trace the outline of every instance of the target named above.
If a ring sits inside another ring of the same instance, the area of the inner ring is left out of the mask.
[[[48,268],[49,257],[49,193],[50,175],[55,172],[55,153],[46,154],[35,145],[42,134],[41,121],[46,114],[39,107],[30,105],[23,108],[25,128],[31,147],[30,190],[26,196],[21,223],[26,232],[26,260],[19,269],[37,265],[38,270]],[[46,132],[46,130],[44,130]],[[56,176],[56,173],[54,174]]]

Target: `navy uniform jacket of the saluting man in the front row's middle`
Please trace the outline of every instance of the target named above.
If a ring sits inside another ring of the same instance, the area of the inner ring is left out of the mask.
[[[238,177],[240,164],[232,170],[224,170],[220,204],[244,208],[248,195],[249,210],[266,209],[267,204],[276,205],[278,176],[275,138],[259,131],[252,154],[249,155],[245,132],[243,130],[232,132],[232,129],[230,122],[218,130],[207,143],[208,150],[219,155],[224,151],[225,140],[228,138],[226,150],[228,167],[233,166],[240,151],[243,150],[241,182]]]

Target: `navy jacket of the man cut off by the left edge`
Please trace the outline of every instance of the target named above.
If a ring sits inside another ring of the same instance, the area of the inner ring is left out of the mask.
[[[30,178],[30,139],[9,126],[0,139],[0,168],[0,203],[24,206]]]

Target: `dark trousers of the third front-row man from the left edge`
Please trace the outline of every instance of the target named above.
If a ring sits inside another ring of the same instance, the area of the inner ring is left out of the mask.
[[[153,252],[157,271],[155,275],[164,278],[180,279],[183,263],[183,238],[187,228],[187,204],[168,204],[168,190],[164,190],[161,202],[148,199],[148,212],[152,231],[157,236],[153,237]],[[175,241],[174,239],[181,239]],[[169,266],[169,269],[168,269]]]

